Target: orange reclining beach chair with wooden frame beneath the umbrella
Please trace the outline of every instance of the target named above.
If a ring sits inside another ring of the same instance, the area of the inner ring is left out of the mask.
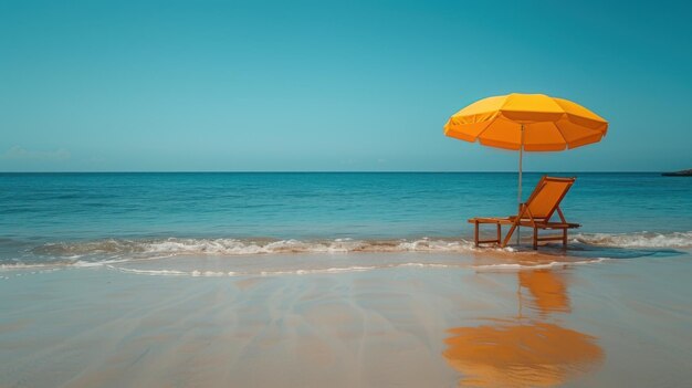
[[[559,209],[559,203],[567,195],[567,191],[574,185],[576,178],[554,178],[543,177],[536,185],[534,192],[531,193],[526,203],[521,203],[517,216],[510,216],[504,218],[497,217],[476,217],[469,220],[474,224],[473,241],[475,247],[483,243],[497,243],[501,247],[506,247],[507,242],[512,238],[514,230],[521,227],[533,228],[533,248],[538,249],[538,241],[555,241],[562,240],[563,245],[567,247],[567,230],[573,228],[579,228],[578,223],[570,223],[565,220],[565,214]],[[551,222],[551,218],[557,211],[559,222]],[[496,226],[497,235],[495,239],[480,240],[479,229],[481,224],[492,223]],[[507,235],[502,240],[502,226],[512,226]],[[538,237],[538,229],[541,230],[559,230],[559,235]]]

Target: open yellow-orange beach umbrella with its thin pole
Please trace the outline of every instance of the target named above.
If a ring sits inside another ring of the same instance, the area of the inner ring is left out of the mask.
[[[518,201],[522,201],[524,151],[558,151],[599,141],[608,122],[581,105],[545,94],[512,93],[487,97],[457,112],[444,135],[520,151]]]

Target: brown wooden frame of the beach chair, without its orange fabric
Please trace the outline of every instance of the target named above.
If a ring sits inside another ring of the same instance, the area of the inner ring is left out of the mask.
[[[484,244],[484,243],[497,243],[504,248],[507,245],[507,243],[510,242],[510,239],[512,238],[512,234],[514,234],[514,231],[517,228],[530,227],[533,229],[533,249],[538,249],[539,241],[558,241],[558,240],[562,241],[563,247],[566,248],[567,247],[567,230],[573,229],[573,228],[579,228],[580,226],[578,223],[567,222],[567,220],[565,219],[565,214],[563,213],[563,210],[559,208],[559,203],[563,201],[563,199],[567,195],[567,191],[569,191],[569,189],[572,188],[572,185],[574,185],[575,179],[576,178],[555,178],[555,177],[544,176],[538,181],[538,185],[536,185],[536,188],[534,189],[534,192],[531,195],[531,197],[528,197],[528,200],[526,200],[526,202],[524,203],[520,203],[517,216],[506,217],[506,218],[476,217],[476,218],[470,219],[469,222],[474,224],[473,242],[475,243],[475,247],[479,247],[480,244]],[[553,206],[553,208],[549,209],[549,211],[546,213],[545,217],[534,217],[530,209],[531,203],[533,200],[535,200],[538,193],[541,193],[541,191],[551,181],[566,182],[568,183],[568,186],[563,191],[560,197],[555,201],[555,205]],[[557,212],[557,216],[559,217],[560,222],[551,222],[551,218],[553,217],[555,212]],[[484,223],[494,223],[496,226],[496,233],[497,233],[496,239],[481,240],[479,238],[480,226]],[[504,240],[502,240],[502,226],[503,224],[512,226],[510,230],[507,231],[507,234],[504,238]],[[538,235],[539,229],[541,230],[560,230],[562,233],[559,235],[539,237]]]

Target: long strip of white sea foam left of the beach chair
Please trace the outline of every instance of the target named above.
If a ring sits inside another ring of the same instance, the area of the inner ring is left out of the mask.
[[[340,254],[340,253],[469,253],[473,243],[463,239],[391,240],[268,240],[268,239],[157,239],[99,240],[45,243],[28,251],[14,263],[0,264],[0,271],[33,268],[98,268],[130,261],[149,261],[176,256],[239,256],[261,254]],[[490,249],[503,252],[506,250]],[[349,269],[355,271],[358,269]],[[335,270],[337,271],[337,270]],[[168,274],[168,273],[165,273]],[[197,276],[228,275],[196,273]]]

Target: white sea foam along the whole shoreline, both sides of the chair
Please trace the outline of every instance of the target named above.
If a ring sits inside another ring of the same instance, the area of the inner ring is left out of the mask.
[[[614,248],[692,248],[692,232],[651,233],[637,232],[626,234],[581,233],[573,242]],[[269,240],[269,239],[149,239],[125,240],[108,239],[97,241],[76,241],[46,243],[27,252],[29,260],[0,264],[0,271],[25,270],[35,268],[96,268],[128,261],[156,260],[176,256],[237,256],[260,254],[319,253],[340,254],[365,253],[483,253],[510,255],[513,258],[531,256],[536,252],[514,248],[476,249],[473,242],[464,239],[421,238],[389,240]],[[22,258],[23,259],[23,258]],[[430,265],[430,264],[426,264]],[[515,265],[515,264],[508,264]],[[542,264],[545,265],[545,264]],[[557,264],[555,264],[557,265]],[[356,269],[357,270],[357,269]],[[353,271],[353,269],[352,269]],[[198,276],[228,275],[199,273]]]

